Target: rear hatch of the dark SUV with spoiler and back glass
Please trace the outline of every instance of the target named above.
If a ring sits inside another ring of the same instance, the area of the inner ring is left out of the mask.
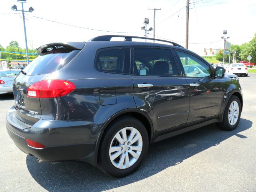
[[[28,88],[67,65],[84,47],[85,42],[53,43],[38,48],[38,56],[14,79],[16,117],[33,125],[41,118],[40,98],[27,95]]]

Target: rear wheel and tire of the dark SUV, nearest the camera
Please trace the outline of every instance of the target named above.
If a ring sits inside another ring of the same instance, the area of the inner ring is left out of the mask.
[[[148,145],[148,132],[142,122],[130,116],[118,118],[104,131],[99,147],[98,166],[110,176],[128,176],[146,158]]]

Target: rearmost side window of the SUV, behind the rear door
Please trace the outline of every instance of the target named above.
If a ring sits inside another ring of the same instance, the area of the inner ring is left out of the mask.
[[[130,74],[130,49],[103,49],[97,52],[96,68],[109,73]]]

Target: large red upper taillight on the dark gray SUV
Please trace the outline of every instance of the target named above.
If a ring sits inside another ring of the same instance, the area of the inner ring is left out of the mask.
[[[69,81],[43,80],[29,86],[27,96],[35,98],[56,98],[71,93],[75,88],[76,86]]]

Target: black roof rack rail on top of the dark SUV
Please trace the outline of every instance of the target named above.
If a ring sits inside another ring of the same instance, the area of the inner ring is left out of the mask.
[[[174,46],[184,48],[183,46],[181,46],[181,45],[179,45],[177,43],[174,43],[172,41],[166,41],[166,40],[154,39],[154,38],[147,38],[147,37],[138,37],[138,36],[126,36],[126,35],[102,35],[102,36],[94,37],[94,38],[90,39],[89,41],[110,41],[111,38],[113,38],[113,37],[124,37],[124,41],[132,41],[132,38],[156,40],[156,41],[162,41],[162,42],[171,43]]]

